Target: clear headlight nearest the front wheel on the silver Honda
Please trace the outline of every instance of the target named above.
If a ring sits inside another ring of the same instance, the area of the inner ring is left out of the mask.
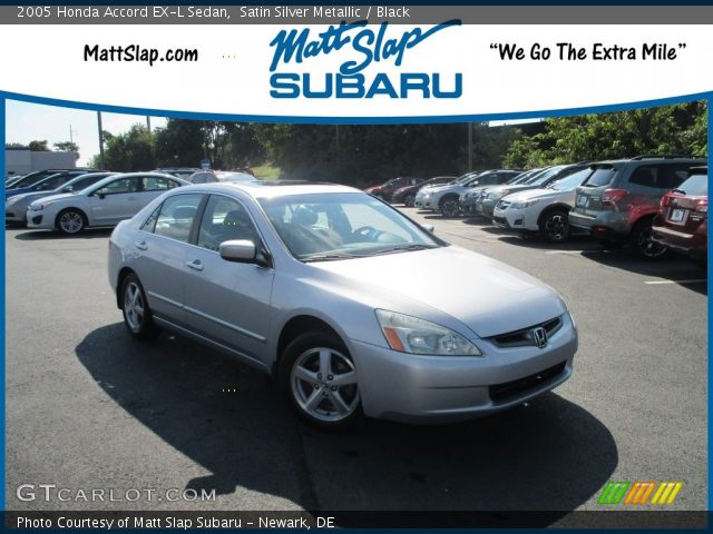
[[[393,350],[432,356],[482,356],[472,343],[445,326],[385,309],[377,309],[377,319]]]

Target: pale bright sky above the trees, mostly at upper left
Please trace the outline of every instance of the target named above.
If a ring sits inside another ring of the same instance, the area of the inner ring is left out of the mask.
[[[490,125],[517,125],[535,120],[539,119],[494,120],[490,121]],[[137,122],[145,125],[146,116],[101,113],[101,128],[114,135],[127,131],[131,125]],[[152,117],[150,122],[152,128],[163,127],[166,125],[166,119]],[[4,138],[6,142],[21,142],[23,145],[35,140],[47,140],[47,146],[50,149],[55,142],[74,140],[79,146],[78,167],[86,166],[92,156],[99,154],[97,112],[84,109],[6,100]]]

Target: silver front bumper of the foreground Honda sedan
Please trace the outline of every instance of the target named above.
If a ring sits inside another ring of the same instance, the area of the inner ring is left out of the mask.
[[[417,356],[351,340],[364,413],[441,423],[517,406],[569,378],[577,333],[565,314],[545,348],[476,343],[485,356]]]

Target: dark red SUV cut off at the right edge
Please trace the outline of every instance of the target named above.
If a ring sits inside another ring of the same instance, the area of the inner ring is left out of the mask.
[[[661,199],[652,231],[654,240],[705,264],[709,251],[709,169],[691,169],[691,176]]]

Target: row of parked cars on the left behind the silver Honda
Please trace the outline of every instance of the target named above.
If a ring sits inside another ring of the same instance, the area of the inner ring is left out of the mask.
[[[174,172],[94,172],[49,169],[27,175],[6,189],[7,222],[77,234],[87,227],[115,226],[131,218],[163,191],[209,181],[253,181],[247,172],[191,169]],[[172,169],[168,169],[172,170]]]

